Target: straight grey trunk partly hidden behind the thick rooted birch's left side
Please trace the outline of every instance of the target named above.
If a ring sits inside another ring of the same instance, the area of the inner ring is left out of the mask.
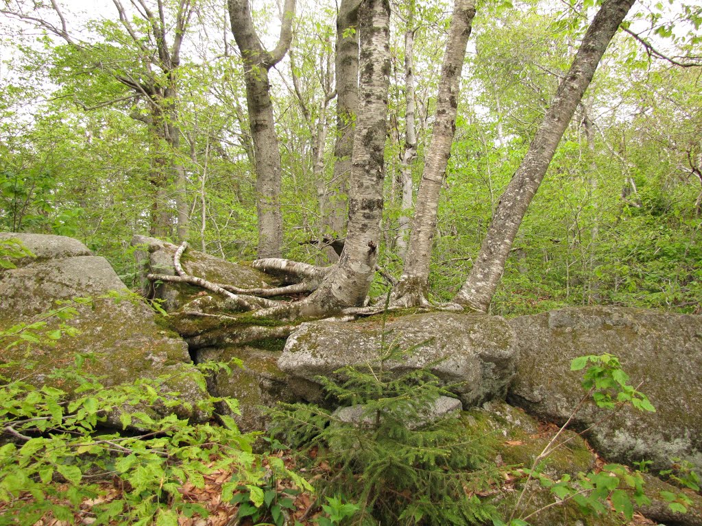
[[[348,181],[358,109],[358,8],[360,0],[342,0],[336,18],[336,143],[333,178],[326,188],[324,229],[343,237],[347,221]],[[328,254],[333,257],[331,252]]]

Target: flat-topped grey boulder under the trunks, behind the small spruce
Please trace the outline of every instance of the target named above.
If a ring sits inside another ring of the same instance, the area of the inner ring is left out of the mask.
[[[288,338],[278,365],[293,377],[299,396],[316,400],[317,377],[333,377],[347,365],[373,365],[383,345],[411,351],[388,361],[385,370],[428,367],[465,407],[505,396],[515,372],[515,339],[505,320],[457,313],[402,316],[385,327],[379,319],[304,323]]]

